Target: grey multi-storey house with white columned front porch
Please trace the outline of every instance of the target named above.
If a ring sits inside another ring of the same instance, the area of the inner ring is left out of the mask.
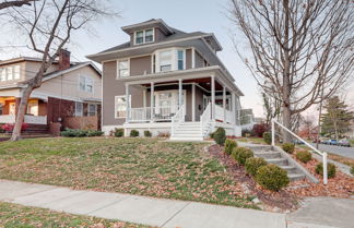
[[[216,127],[240,135],[240,89],[216,56],[213,34],[163,20],[122,27],[130,40],[87,58],[103,64],[103,130],[149,130],[202,140]]]

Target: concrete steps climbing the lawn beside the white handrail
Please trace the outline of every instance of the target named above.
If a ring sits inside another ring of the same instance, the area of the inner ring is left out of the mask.
[[[274,164],[287,172],[291,181],[305,179],[305,173],[294,165],[291,165],[286,157],[280,152],[273,151],[271,146],[247,146],[253,151],[256,157],[263,158],[269,164]]]

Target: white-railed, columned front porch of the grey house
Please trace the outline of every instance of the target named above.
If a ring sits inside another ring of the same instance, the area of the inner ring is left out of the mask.
[[[137,91],[142,91],[141,97],[132,96]],[[215,75],[127,82],[123,98],[126,103],[117,111],[126,115],[127,134],[132,129],[160,129],[168,131],[172,139],[178,135],[178,139],[202,140],[217,127],[226,128],[228,135],[240,133],[238,94]]]

